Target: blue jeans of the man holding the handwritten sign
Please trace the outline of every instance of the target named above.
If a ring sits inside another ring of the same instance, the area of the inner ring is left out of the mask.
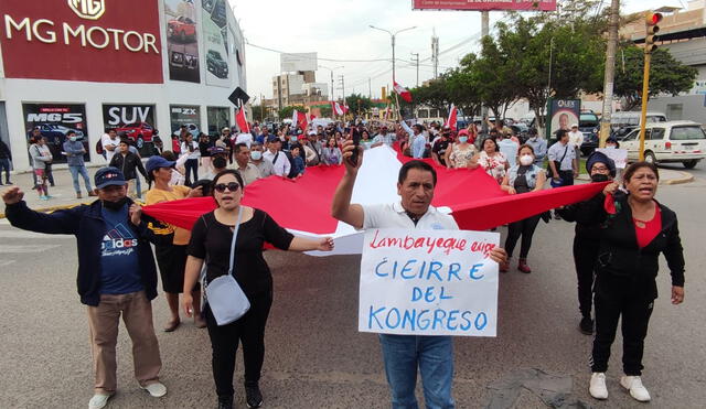
[[[417,366],[428,409],[451,409],[453,338],[451,336],[381,334],[385,375],[393,409],[417,409]]]

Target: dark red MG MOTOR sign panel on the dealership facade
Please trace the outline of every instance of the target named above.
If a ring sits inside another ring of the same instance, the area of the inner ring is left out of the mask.
[[[7,78],[161,84],[158,1],[2,0]]]

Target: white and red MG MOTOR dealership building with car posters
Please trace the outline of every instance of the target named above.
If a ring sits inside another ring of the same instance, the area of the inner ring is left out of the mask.
[[[227,0],[0,1],[0,138],[14,170],[31,168],[35,127],[54,163],[75,130],[86,161],[106,128],[145,154],[159,131],[216,133],[234,118],[228,95],[246,88],[243,34]],[[195,136],[195,134],[194,134]]]

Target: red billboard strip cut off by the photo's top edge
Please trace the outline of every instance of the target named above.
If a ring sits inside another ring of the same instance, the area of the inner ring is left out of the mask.
[[[555,11],[556,0],[413,0],[413,9]]]

